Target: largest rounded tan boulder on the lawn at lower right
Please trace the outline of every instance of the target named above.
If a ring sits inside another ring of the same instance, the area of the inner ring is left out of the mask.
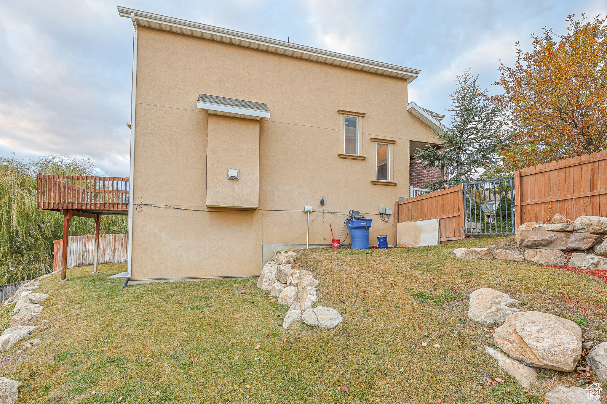
[[[582,329],[571,320],[540,311],[510,314],[493,341],[528,366],[571,372],[582,356]]]

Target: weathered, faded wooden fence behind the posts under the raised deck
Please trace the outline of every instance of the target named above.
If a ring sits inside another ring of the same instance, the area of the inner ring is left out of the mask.
[[[99,236],[98,263],[126,262],[128,234],[102,234]],[[55,240],[53,271],[63,267],[63,240]],[[95,236],[70,236],[67,242],[67,268],[93,265]]]

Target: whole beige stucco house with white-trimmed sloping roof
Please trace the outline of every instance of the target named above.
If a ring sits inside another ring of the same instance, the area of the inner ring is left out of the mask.
[[[275,249],[330,246],[350,210],[392,245],[379,207],[441,175],[410,164],[444,118],[407,99],[419,70],[118,11],[134,25],[130,283],[254,276]]]

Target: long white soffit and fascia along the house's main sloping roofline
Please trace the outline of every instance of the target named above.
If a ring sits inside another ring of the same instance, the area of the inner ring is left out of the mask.
[[[421,71],[415,68],[376,62],[356,56],[344,55],[343,53],[294,44],[293,42],[280,41],[279,39],[265,38],[226,28],[200,24],[199,22],[142,12],[140,10],[133,10],[132,8],[118,6],[118,12],[121,17],[127,18],[131,18],[131,13],[133,13],[137,25],[143,27],[197,36],[198,38],[211,39],[212,41],[227,42],[228,44],[293,56],[294,58],[369,71],[378,75],[407,79],[407,82],[412,82]]]

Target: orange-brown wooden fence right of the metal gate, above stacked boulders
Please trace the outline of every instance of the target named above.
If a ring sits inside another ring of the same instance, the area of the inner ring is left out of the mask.
[[[571,220],[607,216],[607,151],[515,171],[517,228],[546,223],[555,213]]]

